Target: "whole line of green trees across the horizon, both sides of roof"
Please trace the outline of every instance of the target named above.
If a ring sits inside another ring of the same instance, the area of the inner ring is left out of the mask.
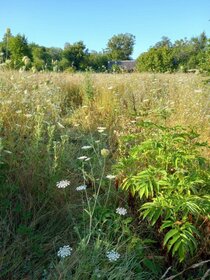
[[[8,28],[0,42],[0,65],[33,71],[106,72],[110,70],[109,61],[132,59],[134,44],[135,36],[125,33],[110,38],[102,52],[89,51],[83,41],[66,43],[63,49],[48,48],[28,43],[25,35],[13,35]],[[204,32],[190,40],[185,38],[174,43],[168,37],[162,37],[136,60],[136,71],[139,72],[186,72],[191,69],[210,72],[210,40]]]

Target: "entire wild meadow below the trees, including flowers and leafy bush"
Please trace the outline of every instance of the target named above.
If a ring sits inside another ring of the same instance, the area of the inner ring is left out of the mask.
[[[0,279],[207,279],[209,97],[193,74],[0,72]]]

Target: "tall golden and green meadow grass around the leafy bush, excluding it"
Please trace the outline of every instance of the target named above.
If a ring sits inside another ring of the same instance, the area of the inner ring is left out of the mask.
[[[135,132],[138,119],[191,127],[209,141],[204,80],[0,72],[0,278],[160,279],[170,262],[155,232],[106,176],[118,158],[119,137]],[[58,189],[61,180],[70,186]],[[76,191],[79,185],[86,191]],[[128,214],[119,216],[117,207]],[[60,259],[57,251],[66,244],[73,253]],[[112,249],[121,256],[116,262],[106,257]]]

